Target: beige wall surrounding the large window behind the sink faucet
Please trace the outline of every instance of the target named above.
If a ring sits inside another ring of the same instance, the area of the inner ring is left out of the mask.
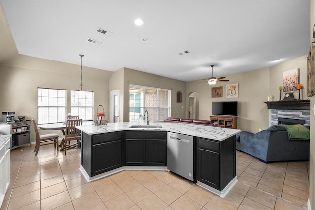
[[[179,118],[185,117],[186,99],[184,95],[186,83],[154,74],[145,73],[129,68],[124,68],[124,100],[129,101],[129,85],[141,85],[154,88],[171,90],[171,116]],[[176,102],[176,92],[182,92],[182,103]],[[129,103],[124,104],[124,122],[129,121]]]

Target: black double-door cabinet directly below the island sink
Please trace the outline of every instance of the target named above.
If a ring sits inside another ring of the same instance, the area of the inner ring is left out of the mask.
[[[125,131],[125,165],[166,166],[166,131]]]

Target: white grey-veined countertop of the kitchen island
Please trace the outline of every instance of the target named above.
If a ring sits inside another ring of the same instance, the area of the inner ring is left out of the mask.
[[[197,125],[197,124],[186,124],[186,123],[174,123],[174,122],[150,122],[149,126],[162,126],[162,128],[130,128],[132,125],[143,125],[145,122],[117,122],[117,123],[108,123],[107,125],[82,125],[77,128],[82,132],[94,135],[101,133],[109,133],[114,131],[168,131],[173,133],[181,133],[190,136],[203,137],[207,139],[213,139],[222,141],[230,136],[233,136],[241,130],[239,129],[230,129],[230,128],[221,128],[214,126],[206,125]]]

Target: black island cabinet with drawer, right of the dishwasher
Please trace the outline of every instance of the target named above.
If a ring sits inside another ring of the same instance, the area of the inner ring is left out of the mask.
[[[196,179],[223,190],[236,176],[235,136],[224,141],[196,138]]]

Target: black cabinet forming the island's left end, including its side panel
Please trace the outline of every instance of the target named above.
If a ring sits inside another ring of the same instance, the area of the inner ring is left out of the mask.
[[[82,133],[81,164],[90,177],[123,166],[123,132]]]

